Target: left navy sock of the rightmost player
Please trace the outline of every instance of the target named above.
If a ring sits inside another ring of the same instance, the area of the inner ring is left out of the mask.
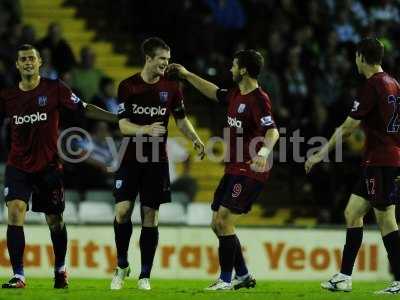
[[[340,273],[351,276],[358,250],[360,250],[363,237],[363,228],[347,228],[346,244],[343,248],[342,266]]]

